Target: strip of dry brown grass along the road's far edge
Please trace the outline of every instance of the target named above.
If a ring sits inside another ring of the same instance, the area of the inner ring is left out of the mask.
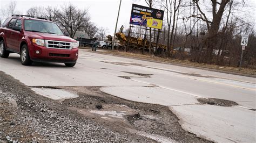
[[[254,70],[254,69],[241,68],[241,70],[239,71],[239,68],[235,68],[235,67],[208,65],[206,63],[190,62],[187,60],[182,61],[182,60],[169,59],[169,58],[165,59],[165,58],[160,58],[160,57],[156,57],[156,56],[142,55],[142,54],[136,54],[136,53],[130,53],[130,52],[104,51],[104,52],[100,52],[100,53],[126,56],[126,57],[130,57],[130,58],[149,60],[149,61],[155,61],[155,62],[165,62],[165,63],[171,63],[171,64],[175,64],[175,65],[213,69],[213,70],[219,70],[220,72],[223,71],[224,73],[232,73],[232,74],[239,74],[239,75],[253,76],[253,77],[256,76],[256,70]]]

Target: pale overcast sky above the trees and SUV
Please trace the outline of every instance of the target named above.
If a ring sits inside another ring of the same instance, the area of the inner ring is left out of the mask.
[[[251,8],[256,9],[256,0],[246,1]],[[120,0],[16,0],[16,2],[17,10],[21,11],[23,14],[25,14],[26,10],[33,6],[46,7],[51,5],[60,7],[65,3],[72,3],[79,9],[89,9],[91,22],[96,23],[99,27],[102,26],[108,28],[108,34],[112,34],[114,33],[114,27],[116,25]],[[3,9],[9,3],[10,0],[0,0],[0,8]],[[123,0],[117,29],[119,29],[122,25],[124,25],[125,28],[129,27],[132,3],[146,6],[145,0]],[[253,11],[253,13],[248,13],[248,15],[251,15],[254,17],[254,19],[256,19],[255,11]]]

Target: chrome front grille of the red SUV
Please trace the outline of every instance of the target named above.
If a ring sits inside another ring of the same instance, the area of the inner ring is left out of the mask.
[[[71,42],[45,40],[47,48],[71,49]]]

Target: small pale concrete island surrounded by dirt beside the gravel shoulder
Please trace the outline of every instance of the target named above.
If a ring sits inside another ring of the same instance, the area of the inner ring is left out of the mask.
[[[52,89],[52,88],[31,88],[37,94],[44,97],[51,98],[53,100],[64,101],[65,99],[77,98],[78,95],[63,89]]]

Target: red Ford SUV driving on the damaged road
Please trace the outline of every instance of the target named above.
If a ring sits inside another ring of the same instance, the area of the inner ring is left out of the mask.
[[[37,62],[62,62],[76,65],[78,42],[45,18],[12,15],[0,27],[0,56],[21,55],[22,65]]]

